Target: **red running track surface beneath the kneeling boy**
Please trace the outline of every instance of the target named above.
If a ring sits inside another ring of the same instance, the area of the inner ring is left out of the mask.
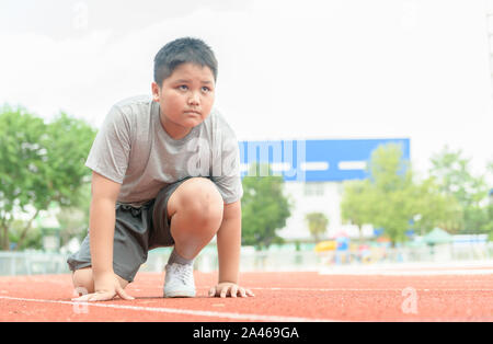
[[[70,275],[0,277],[0,321],[493,321],[493,274],[383,276],[243,273],[253,298],[164,299],[163,274],[139,273],[135,300],[72,302]]]

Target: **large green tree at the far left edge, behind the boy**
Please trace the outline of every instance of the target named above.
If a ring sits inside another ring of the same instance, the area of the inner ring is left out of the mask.
[[[51,123],[24,108],[0,108],[0,242],[9,250],[9,230],[20,214],[22,248],[31,225],[51,202],[70,206],[89,182],[84,160],[95,137],[85,122],[60,113]]]

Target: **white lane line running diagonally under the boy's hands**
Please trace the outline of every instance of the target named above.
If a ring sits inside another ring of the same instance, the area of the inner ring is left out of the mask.
[[[88,307],[102,307],[113,309],[137,310],[158,313],[172,313],[172,314],[187,314],[198,317],[214,317],[214,318],[227,318],[237,321],[265,321],[265,322],[340,322],[340,320],[332,319],[312,319],[300,317],[279,317],[279,316],[263,316],[263,314],[242,314],[233,312],[216,312],[206,310],[191,310],[191,309],[176,309],[176,308],[162,308],[162,307],[139,307],[127,305],[114,305],[106,302],[76,302],[76,301],[60,301],[60,300],[43,300],[43,299],[28,299],[10,296],[0,296],[0,299],[25,301],[25,302],[42,302],[42,303],[59,303],[71,306],[88,306]]]

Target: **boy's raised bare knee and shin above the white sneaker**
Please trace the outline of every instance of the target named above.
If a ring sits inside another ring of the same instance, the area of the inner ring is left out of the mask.
[[[219,230],[222,211],[222,197],[210,180],[193,177],[183,182],[168,200],[176,253],[194,259]]]

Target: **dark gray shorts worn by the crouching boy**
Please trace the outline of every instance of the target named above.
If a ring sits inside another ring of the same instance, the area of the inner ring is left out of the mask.
[[[141,264],[147,261],[149,250],[174,245],[168,220],[168,200],[171,194],[186,180],[163,187],[154,199],[140,208],[116,205],[115,236],[113,241],[113,271],[129,283],[134,280]],[[67,263],[73,272],[91,266],[89,233],[79,252],[71,254]]]

